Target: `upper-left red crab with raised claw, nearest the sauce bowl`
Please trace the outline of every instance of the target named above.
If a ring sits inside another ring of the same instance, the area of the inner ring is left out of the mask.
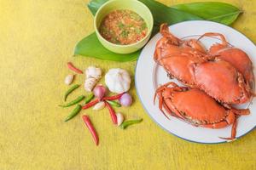
[[[182,41],[173,36],[166,24],[160,26],[160,33],[163,37],[156,43],[155,62],[162,65],[169,76],[184,84],[194,85],[193,66],[206,61],[205,48],[194,39]]]

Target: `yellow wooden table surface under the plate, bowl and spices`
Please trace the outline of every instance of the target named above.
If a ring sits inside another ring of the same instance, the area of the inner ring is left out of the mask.
[[[212,0],[211,0],[212,1]],[[192,1],[161,0],[168,5]],[[244,10],[237,30],[256,42],[256,1],[225,0]],[[0,169],[256,169],[256,130],[230,144],[194,144],[158,127],[131,94],[134,105],[120,109],[143,122],[123,131],[112,125],[107,110],[83,111],[70,122],[72,109],[61,109],[67,61],[80,68],[97,65],[127,69],[118,63],[73,58],[73,48],[93,31],[88,0],[0,0]],[[77,77],[75,82],[82,82]],[[72,94],[84,93],[81,88]],[[71,98],[72,98],[71,97]],[[90,115],[100,136],[98,147],[81,120]]]

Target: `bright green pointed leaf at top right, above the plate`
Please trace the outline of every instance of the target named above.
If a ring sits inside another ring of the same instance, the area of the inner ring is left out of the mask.
[[[176,8],[189,14],[196,14],[204,20],[212,20],[224,25],[232,24],[239,14],[242,13],[241,9],[229,3],[217,2],[185,3],[172,6],[171,8]]]

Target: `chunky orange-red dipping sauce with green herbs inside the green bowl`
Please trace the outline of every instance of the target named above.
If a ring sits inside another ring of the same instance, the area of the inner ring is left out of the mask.
[[[139,14],[129,9],[117,9],[103,18],[99,31],[108,42],[128,45],[142,40],[148,27]]]

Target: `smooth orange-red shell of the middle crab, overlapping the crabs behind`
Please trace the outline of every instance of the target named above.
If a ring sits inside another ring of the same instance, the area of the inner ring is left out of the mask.
[[[195,65],[195,82],[212,98],[227,104],[243,104],[250,99],[241,73],[221,59]]]

